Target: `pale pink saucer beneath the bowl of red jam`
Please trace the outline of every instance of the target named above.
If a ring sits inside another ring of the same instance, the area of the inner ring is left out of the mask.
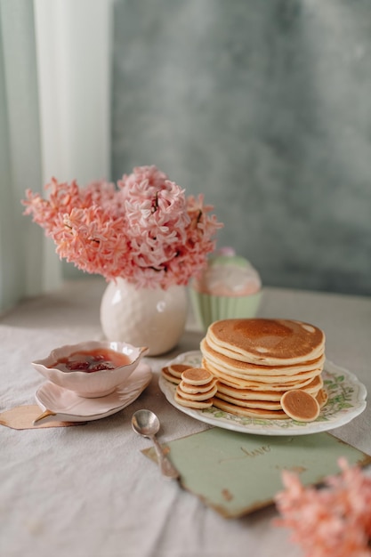
[[[85,399],[76,392],[48,381],[36,392],[36,402],[44,413],[44,417],[36,418],[36,423],[54,420],[90,422],[112,416],[139,397],[149,385],[151,376],[151,368],[144,362],[140,362],[125,383],[118,385],[114,392],[94,399]]]

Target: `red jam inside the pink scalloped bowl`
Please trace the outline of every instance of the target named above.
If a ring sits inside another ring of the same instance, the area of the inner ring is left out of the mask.
[[[52,366],[61,371],[85,371],[93,373],[101,369],[115,369],[127,366],[131,359],[126,354],[109,349],[97,349],[91,351],[79,351],[70,354],[66,358],[58,359]]]

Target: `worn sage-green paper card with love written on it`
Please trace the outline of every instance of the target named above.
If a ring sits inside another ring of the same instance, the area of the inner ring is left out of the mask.
[[[340,472],[338,458],[364,466],[371,456],[329,433],[248,435],[211,428],[169,442],[168,456],[181,473],[181,486],[226,518],[273,503],[283,489],[282,470],[298,472],[305,485]],[[156,460],[153,448],[142,451]]]

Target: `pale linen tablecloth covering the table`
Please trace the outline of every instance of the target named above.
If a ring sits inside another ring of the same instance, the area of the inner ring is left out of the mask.
[[[102,338],[104,282],[93,278],[20,304],[0,319],[0,411],[34,404],[44,382],[30,366],[53,347]],[[350,369],[371,392],[371,299],[267,288],[262,317],[302,319],[322,327],[327,358]],[[143,456],[149,440],[131,428],[133,411],[150,408],[162,423],[161,442],[206,429],[173,408],[158,372],[179,352],[198,349],[190,327],[176,350],[147,359],[153,378],[133,404],[74,427],[16,431],[0,426],[0,555],[2,557],[277,557],[301,555],[284,529],[272,527],[274,507],[226,520],[161,478]],[[371,454],[371,407],[334,430]],[[254,481],[254,478],[246,478]]]

